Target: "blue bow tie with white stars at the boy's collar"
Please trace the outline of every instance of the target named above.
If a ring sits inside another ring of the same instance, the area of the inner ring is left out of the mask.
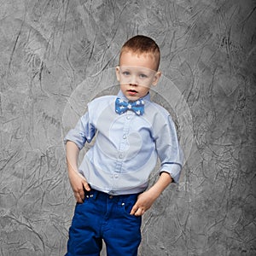
[[[117,98],[115,101],[115,112],[125,113],[127,110],[132,110],[137,115],[144,113],[144,102],[142,99],[138,99],[136,102],[125,102],[124,100]]]

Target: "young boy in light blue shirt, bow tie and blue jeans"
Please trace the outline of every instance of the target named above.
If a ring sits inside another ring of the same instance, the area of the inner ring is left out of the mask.
[[[182,154],[166,109],[150,102],[150,86],[160,79],[160,49],[136,36],[121,49],[118,96],[102,96],[67,133],[67,169],[77,200],[67,255],[98,256],[102,239],[109,256],[135,256],[141,220],[161,192],[177,182]],[[96,135],[78,167],[79,150]],[[148,177],[160,158],[160,177]]]

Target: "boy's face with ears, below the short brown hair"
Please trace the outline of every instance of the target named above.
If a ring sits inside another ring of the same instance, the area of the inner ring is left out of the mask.
[[[154,56],[150,54],[137,55],[124,51],[120,56],[116,76],[120,89],[129,101],[146,96],[151,85],[156,85],[160,72],[155,70]]]

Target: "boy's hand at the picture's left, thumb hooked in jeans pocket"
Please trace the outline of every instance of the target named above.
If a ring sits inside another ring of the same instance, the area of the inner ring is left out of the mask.
[[[69,172],[69,181],[73,189],[73,195],[78,203],[84,202],[84,189],[90,191],[90,185],[79,172]]]

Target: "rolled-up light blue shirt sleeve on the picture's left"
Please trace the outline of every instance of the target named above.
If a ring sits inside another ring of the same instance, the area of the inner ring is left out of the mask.
[[[96,128],[90,123],[89,113],[87,112],[79,119],[75,128],[67,132],[64,143],[67,143],[67,141],[76,143],[81,150],[86,142],[90,143],[95,134]]]

